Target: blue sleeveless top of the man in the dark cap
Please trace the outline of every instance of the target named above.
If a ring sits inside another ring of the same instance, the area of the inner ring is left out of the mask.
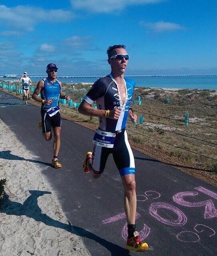
[[[46,110],[48,108],[54,108],[59,106],[59,98],[61,87],[58,80],[52,83],[48,78],[44,80],[44,88],[41,90],[42,100],[52,100],[52,104],[45,105],[42,104],[42,109]]]

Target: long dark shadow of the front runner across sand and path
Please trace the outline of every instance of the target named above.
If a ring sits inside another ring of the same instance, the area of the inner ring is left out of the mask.
[[[45,223],[47,226],[62,228],[63,230],[66,230],[71,234],[89,238],[95,241],[96,243],[99,243],[102,246],[104,246],[107,250],[109,250],[109,252],[111,252],[112,256],[129,256],[130,255],[128,250],[116,244],[113,244],[111,242],[108,242],[107,240],[100,238],[99,236],[96,236],[95,234],[83,228],[73,226],[70,223],[69,224],[62,223],[60,221],[50,218],[45,213],[42,213],[42,210],[38,206],[37,199],[38,197],[44,194],[51,194],[51,192],[39,191],[39,190],[29,190],[29,192],[31,195],[24,201],[23,204],[15,201],[11,201],[8,198],[8,195],[5,195],[0,212],[6,213],[8,215],[16,215],[16,216],[26,215],[27,217],[35,219],[36,221],[41,221]],[[91,252],[91,254],[96,255],[96,252]]]

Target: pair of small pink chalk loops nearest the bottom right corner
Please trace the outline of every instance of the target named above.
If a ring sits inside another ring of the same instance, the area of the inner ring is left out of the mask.
[[[201,228],[202,228],[202,230],[201,230]],[[202,232],[205,232],[204,228],[207,228],[209,231],[212,231],[212,234],[209,235],[209,237],[215,235],[215,230],[213,230],[212,228],[209,228],[208,226],[203,225],[203,224],[195,225],[194,230],[197,233],[202,233]],[[199,231],[199,229],[200,229],[200,231]],[[198,234],[196,234],[195,232],[189,231],[189,230],[180,232],[179,234],[177,234],[176,238],[181,242],[187,242],[187,243],[197,243],[201,239]]]

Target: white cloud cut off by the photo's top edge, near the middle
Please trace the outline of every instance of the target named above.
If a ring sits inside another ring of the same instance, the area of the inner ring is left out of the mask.
[[[111,12],[122,10],[131,4],[153,4],[164,0],[71,0],[72,6],[92,12]]]

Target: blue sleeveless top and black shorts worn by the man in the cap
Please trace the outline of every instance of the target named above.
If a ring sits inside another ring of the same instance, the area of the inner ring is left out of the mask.
[[[44,88],[41,90],[42,100],[52,100],[52,104],[42,104],[41,116],[42,116],[42,131],[50,132],[51,127],[61,127],[61,116],[60,112],[57,112],[54,116],[49,116],[47,111],[51,108],[59,107],[59,98],[61,87],[58,80],[52,83],[48,78],[44,80]]]

